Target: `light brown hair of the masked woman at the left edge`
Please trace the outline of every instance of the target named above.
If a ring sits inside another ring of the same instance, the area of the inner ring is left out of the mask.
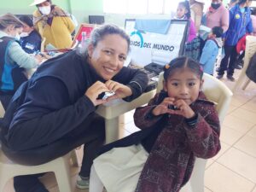
[[[23,27],[22,21],[15,17],[15,15],[6,14],[0,16],[0,30],[4,30],[10,25],[15,26],[15,28]]]

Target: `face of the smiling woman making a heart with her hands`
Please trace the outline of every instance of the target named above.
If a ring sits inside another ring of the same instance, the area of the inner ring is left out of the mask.
[[[125,38],[118,34],[108,34],[94,47],[88,46],[90,66],[103,79],[112,79],[124,66],[128,53],[128,44]]]

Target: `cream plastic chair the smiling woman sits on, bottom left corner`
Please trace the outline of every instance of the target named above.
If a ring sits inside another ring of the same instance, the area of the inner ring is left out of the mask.
[[[4,110],[0,102],[0,117],[3,117]],[[71,153],[75,153],[74,150]],[[60,192],[72,192],[70,174],[70,153],[55,160],[39,166],[21,166],[9,160],[1,149],[0,145],[0,192],[3,192],[5,184],[10,178],[20,175],[30,175],[42,172],[55,172],[55,177]],[[77,163],[74,160],[74,163]]]

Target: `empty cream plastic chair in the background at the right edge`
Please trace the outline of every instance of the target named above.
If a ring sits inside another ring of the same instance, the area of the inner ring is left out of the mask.
[[[236,80],[236,84],[232,88],[232,91],[234,93],[242,83],[244,83],[244,85],[241,87],[242,90],[245,90],[247,88],[247,85],[250,83],[250,79],[247,78],[246,71],[247,71],[248,64],[255,52],[256,52],[256,37],[247,36],[244,64],[243,64],[243,68],[241,69],[239,78]]]

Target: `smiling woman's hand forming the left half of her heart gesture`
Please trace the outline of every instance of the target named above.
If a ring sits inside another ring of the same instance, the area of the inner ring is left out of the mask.
[[[107,102],[107,100],[97,99],[97,97],[105,91],[109,91],[106,84],[103,84],[100,81],[96,81],[95,84],[92,84],[88,90],[84,93],[84,96],[87,96],[91,102],[93,102],[94,106],[100,105],[104,102]]]

